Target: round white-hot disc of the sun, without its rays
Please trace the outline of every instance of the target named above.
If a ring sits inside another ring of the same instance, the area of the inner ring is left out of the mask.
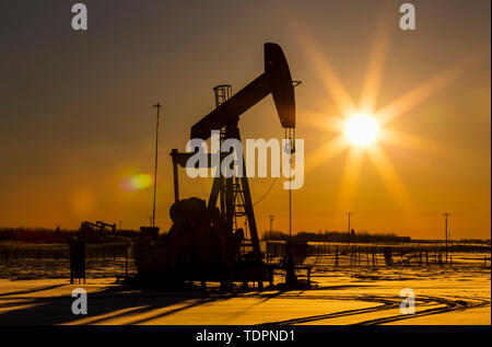
[[[377,122],[366,114],[356,114],[345,123],[344,134],[350,143],[367,147],[377,140],[379,126]]]

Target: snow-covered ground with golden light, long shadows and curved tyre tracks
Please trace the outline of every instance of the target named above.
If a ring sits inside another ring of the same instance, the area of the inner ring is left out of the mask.
[[[85,285],[73,286],[60,278],[65,273],[54,271],[51,277],[58,278],[0,279],[0,324],[490,325],[491,270],[490,263],[483,265],[484,256],[455,254],[453,266],[387,267],[379,262],[375,269],[371,264],[336,268],[332,258],[307,258],[305,264],[314,265],[311,289],[233,293],[213,285],[207,292],[142,290],[117,285],[101,271]],[[26,274],[21,278],[28,278]],[[278,274],[276,281],[281,280]],[[87,315],[72,314],[71,293],[78,287],[89,293]],[[403,288],[414,292],[414,314],[400,312]]]

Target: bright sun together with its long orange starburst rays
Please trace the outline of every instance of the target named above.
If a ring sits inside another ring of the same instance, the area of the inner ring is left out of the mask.
[[[319,53],[311,37],[297,27],[301,44],[308,53],[308,57],[323,78],[327,93],[340,112],[338,115],[324,115],[305,111],[303,117],[300,118],[305,125],[315,126],[319,129],[321,124],[327,130],[337,134],[333,139],[312,151],[306,158],[306,172],[318,167],[344,150],[349,150],[339,195],[341,208],[347,208],[350,206],[350,199],[355,192],[362,161],[367,157],[394,198],[400,203],[405,210],[415,212],[407,189],[386,155],[383,146],[399,146],[407,149],[425,148],[426,150],[442,148],[442,146],[431,139],[396,131],[390,129],[389,125],[432,94],[449,85],[476,61],[468,59],[442,71],[388,105],[376,109],[375,105],[377,104],[387,55],[388,33],[389,31],[385,25],[382,25],[378,30],[370,55],[362,95],[359,104],[356,104],[326,57]]]

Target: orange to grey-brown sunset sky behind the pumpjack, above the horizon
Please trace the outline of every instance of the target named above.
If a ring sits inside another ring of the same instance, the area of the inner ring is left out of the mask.
[[[168,230],[171,149],[184,150],[214,108],[214,85],[236,92],[262,73],[273,42],[303,82],[294,233],[347,231],[351,211],[355,232],[443,239],[448,212],[452,239],[490,239],[490,1],[411,1],[415,31],[399,27],[403,1],[82,2],[83,32],[71,28],[75,1],[0,3],[1,227],[148,225],[152,188],[128,180],[152,174],[160,102],[156,224]],[[389,115],[390,139],[337,149],[342,130],[331,125],[364,95]],[[270,96],[239,128],[244,139],[283,137]],[[181,197],[208,199],[210,180],[179,178]],[[249,183],[254,203],[273,184],[255,206],[260,233],[269,215],[289,230],[289,194],[273,180]]]

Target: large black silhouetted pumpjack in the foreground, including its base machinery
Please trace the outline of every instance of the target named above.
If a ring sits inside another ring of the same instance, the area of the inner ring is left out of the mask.
[[[280,124],[290,131],[295,128],[295,97],[285,56],[278,44],[265,44],[265,72],[231,95],[230,85],[215,89],[216,108],[191,127],[191,139],[207,140],[213,130],[220,131],[221,143],[227,139],[241,141],[238,123],[242,115],[268,95],[272,95]],[[286,131],[286,130],[285,130]],[[175,203],[169,209],[173,225],[161,240],[142,238],[133,246],[138,276],[141,279],[180,285],[184,281],[220,281],[230,287],[234,281],[272,281],[272,271],[260,252],[254,206],[243,159],[241,177],[214,178],[208,201],[200,198],[179,199],[178,167],[186,167],[194,153],[171,152]],[[219,167],[227,153],[219,155]],[[219,206],[218,206],[219,205]],[[245,217],[253,251],[241,254],[245,241],[237,217]]]

